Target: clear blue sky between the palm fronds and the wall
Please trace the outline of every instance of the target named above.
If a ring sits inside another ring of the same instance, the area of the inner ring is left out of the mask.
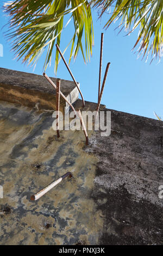
[[[0,1],[2,5],[3,1]],[[137,32],[130,36],[124,36],[125,33],[114,31],[116,25],[111,25],[107,31],[103,30],[107,15],[102,21],[97,20],[97,15],[93,12],[93,25],[95,34],[95,46],[93,46],[93,54],[91,61],[84,64],[82,54],[79,53],[76,61],[72,60],[70,68],[74,77],[80,82],[80,88],[86,101],[97,102],[98,94],[98,73],[99,73],[99,51],[101,32],[104,33],[103,45],[103,67],[102,80],[105,67],[108,62],[111,63],[106,80],[102,104],[107,108],[117,111],[127,112],[131,114],[142,115],[144,117],[154,118],[153,111],[163,118],[162,98],[162,68],[163,59],[160,63],[150,60],[137,59],[136,54],[131,52],[137,38]],[[1,28],[7,23],[7,17],[0,10]],[[42,68],[45,56],[42,56],[37,63],[35,70],[27,65],[22,64],[21,60],[14,60],[14,53],[10,51],[9,42],[4,39],[5,29],[0,31],[0,44],[3,44],[3,57],[0,57],[0,66],[2,68],[13,69],[24,72],[34,72],[42,75]],[[73,34],[73,27],[67,27],[61,35],[61,51],[64,50],[68,36]],[[118,35],[117,35],[118,34]],[[69,52],[65,54],[68,62]],[[55,56],[54,56],[55,57]],[[48,76],[54,75],[54,62],[46,71]],[[65,65],[62,61],[59,63],[57,77],[65,80],[72,80]]]

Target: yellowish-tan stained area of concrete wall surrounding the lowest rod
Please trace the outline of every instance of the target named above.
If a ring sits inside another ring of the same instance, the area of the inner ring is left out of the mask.
[[[87,244],[96,244],[103,227],[101,212],[90,197],[97,159],[84,151],[83,131],[61,131],[58,139],[52,127],[43,124],[42,115],[35,118],[35,124],[27,122],[15,128],[11,120],[10,124],[5,120],[1,126],[1,137],[9,127],[7,141],[10,138],[2,164],[3,204],[9,204],[12,211],[0,223],[0,243],[61,245],[84,239]],[[30,202],[30,194],[66,172],[72,172],[73,178]],[[50,227],[42,223],[50,223]]]

